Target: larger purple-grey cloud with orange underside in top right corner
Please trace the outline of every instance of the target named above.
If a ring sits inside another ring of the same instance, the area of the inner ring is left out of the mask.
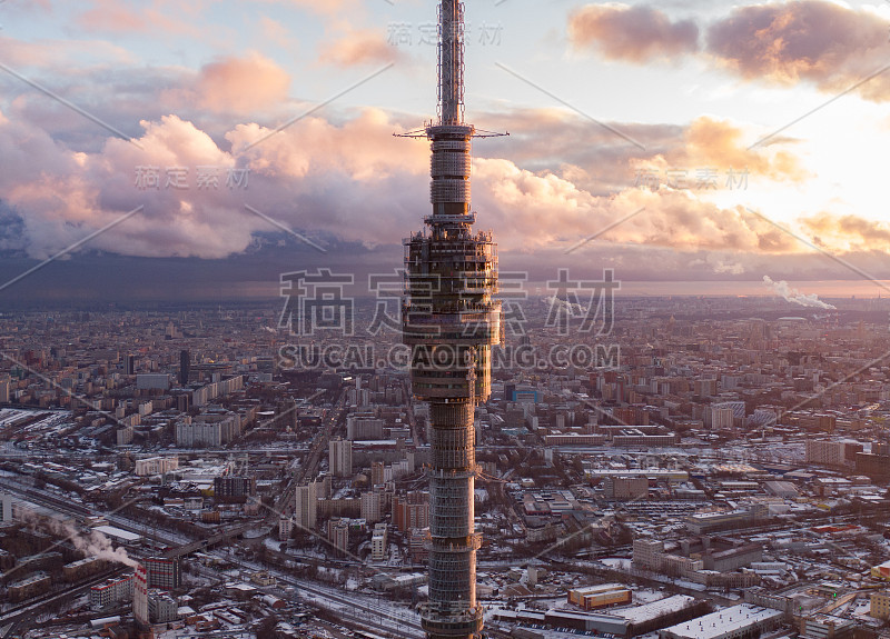
[[[708,30],[708,51],[746,80],[811,81],[842,91],[887,64],[887,20],[823,0],[736,8]],[[890,78],[862,86],[870,100],[890,99]]]

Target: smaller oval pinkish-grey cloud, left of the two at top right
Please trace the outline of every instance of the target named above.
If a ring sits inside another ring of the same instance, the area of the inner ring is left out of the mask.
[[[570,17],[568,39],[609,60],[643,63],[695,52],[699,28],[691,20],[672,22],[644,4],[587,4]]]

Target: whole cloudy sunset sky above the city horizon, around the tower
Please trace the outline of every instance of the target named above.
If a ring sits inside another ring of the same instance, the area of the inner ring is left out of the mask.
[[[474,142],[502,269],[890,292],[890,0],[465,4],[466,120],[510,132]],[[436,117],[435,21],[0,1],[0,279],[59,256],[0,303],[392,272],[429,210],[428,144],[393,133]]]

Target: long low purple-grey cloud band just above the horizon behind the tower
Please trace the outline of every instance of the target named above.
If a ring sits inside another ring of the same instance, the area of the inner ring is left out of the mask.
[[[394,244],[369,250],[359,243],[332,241],[326,243],[329,252],[322,254],[284,233],[277,238],[270,236],[270,239],[274,241],[256,250],[219,260],[138,258],[95,251],[77,253],[0,291],[0,312],[34,304],[100,309],[159,302],[216,307],[226,301],[263,302],[278,311],[283,303],[281,273],[329,268],[333,272],[355,278],[355,286],[345,290],[345,294],[368,297],[369,273],[392,273],[402,264],[402,247]],[[890,256],[854,252],[848,257],[874,277],[890,279]],[[0,252],[0,280],[8,281],[36,263]],[[733,294],[736,284],[749,291],[760,291],[764,273],[777,280],[794,282],[863,282],[861,276],[820,253],[764,256],[735,251],[676,251],[600,241],[572,254],[557,249],[501,253],[502,272],[528,273],[532,294],[547,294],[545,282],[556,279],[560,268],[570,269],[573,278],[590,279],[602,277],[604,268],[614,269],[615,278],[623,282],[623,294],[643,282],[652,282],[651,290],[655,292],[666,286],[668,294],[673,294],[671,291],[676,287],[665,282],[688,282],[681,288],[693,294]],[[862,290],[868,289],[866,286]],[[880,292],[880,289],[876,286],[873,292]]]

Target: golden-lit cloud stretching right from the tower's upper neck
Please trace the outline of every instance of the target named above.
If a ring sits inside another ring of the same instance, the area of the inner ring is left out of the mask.
[[[647,172],[668,183],[669,170],[685,172],[689,188],[701,194],[726,188],[730,171],[739,180],[748,179],[746,171],[750,181],[760,184],[768,180],[801,183],[811,177],[793,152],[794,140],[749,150],[751,141],[763,134],[761,130],[708,116],[686,126],[607,122],[645,149],[557,109],[485,113],[479,120],[497,121],[511,137],[475,143],[476,157],[506,159],[535,173],[550,172],[596,196],[641,186]]]

